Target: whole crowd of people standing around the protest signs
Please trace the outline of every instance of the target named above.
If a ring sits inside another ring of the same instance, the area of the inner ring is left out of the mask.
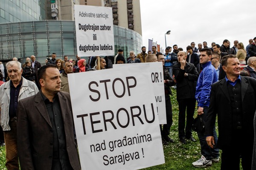
[[[67,74],[109,69],[113,64],[162,62],[167,120],[166,125],[160,125],[162,143],[175,142],[174,136],[169,136],[169,95],[176,89],[179,142],[197,142],[192,136],[195,116],[205,124],[205,129],[197,130],[201,158],[192,165],[207,167],[218,162],[221,149],[221,170],[239,170],[240,159],[244,170],[255,170],[256,37],[246,48],[238,40],[230,48],[230,42],[224,40],[222,45],[212,42],[211,47],[207,42],[199,43],[198,48],[191,42],[186,51],[173,45],[163,54],[156,46],[148,53],[145,46],[141,50],[137,55],[130,51],[125,57],[119,49],[116,56],[92,56],[88,61],[78,55],[76,60],[67,56],[56,59],[52,53],[45,65],[34,55],[24,64],[13,58],[6,64],[8,76],[0,62],[0,142],[6,147],[7,169],[18,170],[19,162],[21,169],[81,168]]]

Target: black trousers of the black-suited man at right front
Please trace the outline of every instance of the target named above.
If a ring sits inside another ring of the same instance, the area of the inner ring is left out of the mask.
[[[251,170],[253,141],[241,129],[232,130],[231,135],[230,146],[222,149],[221,170],[240,170],[240,156],[243,170]]]

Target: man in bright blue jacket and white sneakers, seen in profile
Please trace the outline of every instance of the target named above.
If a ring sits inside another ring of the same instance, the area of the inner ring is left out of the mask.
[[[218,81],[218,76],[215,68],[211,64],[212,51],[209,48],[203,48],[200,53],[200,64],[203,65],[203,70],[199,75],[196,85],[195,98],[198,102],[198,115],[201,115],[206,122],[208,106],[210,104],[211,85]],[[215,128],[213,130],[214,140],[217,141]],[[206,136],[202,132],[198,132],[198,138],[201,145],[201,158],[193,162],[195,167],[206,167],[212,164],[212,161],[219,161],[219,150],[210,148],[206,142]]]

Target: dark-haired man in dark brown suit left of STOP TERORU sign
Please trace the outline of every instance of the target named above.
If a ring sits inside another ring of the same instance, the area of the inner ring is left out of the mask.
[[[70,95],[60,91],[60,77],[55,65],[42,66],[38,70],[41,91],[18,104],[17,148],[21,169],[81,169]]]

